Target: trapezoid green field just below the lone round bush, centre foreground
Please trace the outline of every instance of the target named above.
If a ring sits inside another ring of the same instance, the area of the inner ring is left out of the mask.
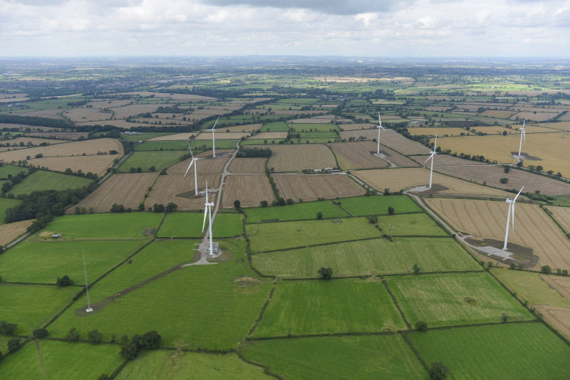
[[[280,281],[253,336],[398,329],[405,323],[379,280]]]

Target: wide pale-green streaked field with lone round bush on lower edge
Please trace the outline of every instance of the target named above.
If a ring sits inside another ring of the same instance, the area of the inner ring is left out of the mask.
[[[339,277],[413,273],[414,264],[423,273],[481,269],[455,241],[442,238],[372,239],[252,255],[260,273],[283,278],[316,278],[321,267]]]

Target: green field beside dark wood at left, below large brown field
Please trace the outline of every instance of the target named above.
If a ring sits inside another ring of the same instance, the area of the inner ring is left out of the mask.
[[[53,219],[44,231],[61,233],[63,239],[144,239],[163,216],[148,212],[66,215]]]

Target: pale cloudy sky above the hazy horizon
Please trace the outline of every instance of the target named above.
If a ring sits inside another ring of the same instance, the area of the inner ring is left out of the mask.
[[[4,57],[569,58],[569,48],[564,0],[0,0]]]

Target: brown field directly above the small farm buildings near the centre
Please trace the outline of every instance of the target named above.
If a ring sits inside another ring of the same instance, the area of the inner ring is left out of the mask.
[[[271,146],[271,152],[267,167],[278,172],[336,167],[333,152],[321,144]]]

